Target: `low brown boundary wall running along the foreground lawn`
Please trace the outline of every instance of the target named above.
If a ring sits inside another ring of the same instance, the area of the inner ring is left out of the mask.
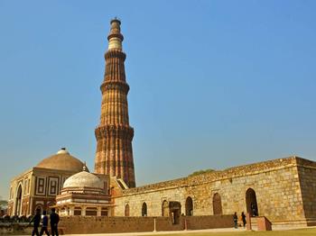
[[[153,231],[154,219],[156,231],[182,231],[186,225],[189,230],[233,227],[233,215],[181,216],[179,224],[169,217],[66,216],[60,217],[59,227],[65,234]]]

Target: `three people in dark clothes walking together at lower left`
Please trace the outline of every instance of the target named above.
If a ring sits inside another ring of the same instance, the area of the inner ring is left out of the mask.
[[[40,223],[42,221],[42,228],[39,232]],[[42,212],[41,215],[41,209],[36,209],[36,214],[34,215],[33,219],[31,220],[30,224],[33,222],[33,231],[32,236],[42,236],[42,234],[45,232],[48,236],[50,236],[50,232],[48,231],[48,216],[46,215],[46,211]],[[51,222],[51,235],[52,236],[58,236],[58,222],[60,222],[60,216],[58,213],[55,213],[55,208],[51,208],[51,214],[50,214],[50,222]]]

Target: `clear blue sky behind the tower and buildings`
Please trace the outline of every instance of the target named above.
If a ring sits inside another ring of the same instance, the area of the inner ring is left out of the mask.
[[[109,20],[125,36],[137,185],[316,160],[315,1],[1,1],[0,195],[67,147],[93,169]]]

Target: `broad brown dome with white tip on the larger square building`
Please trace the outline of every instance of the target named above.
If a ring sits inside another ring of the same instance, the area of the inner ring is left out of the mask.
[[[72,172],[79,172],[84,167],[84,164],[75,157],[72,157],[68,150],[62,148],[55,155],[42,159],[37,164],[36,168],[51,168],[59,170],[68,170]]]

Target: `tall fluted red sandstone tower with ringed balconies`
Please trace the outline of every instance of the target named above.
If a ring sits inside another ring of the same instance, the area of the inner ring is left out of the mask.
[[[106,72],[101,85],[102,104],[100,123],[95,130],[97,152],[95,172],[111,177],[123,178],[129,187],[135,187],[135,171],[132,140],[134,129],[129,126],[127,93],[125,82],[125,53],[121,22],[111,21],[105,54]]]

